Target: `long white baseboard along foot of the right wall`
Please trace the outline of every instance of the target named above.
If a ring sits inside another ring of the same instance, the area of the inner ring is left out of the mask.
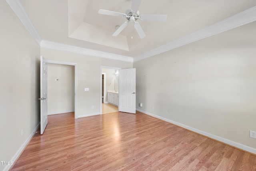
[[[161,116],[158,116],[158,115],[154,115],[154,114],[152,114],[152,113],[148,113],[148,112],[143,111],[143,110],[140,110],[140,109],[136,109],[136,110],[137,110],[137,111],[140,111],[140,112],[142,112],[142,113],[145,113],[145,114],[147,114],[147,115],[150,115],[150,116],[152,116],[152,117],[156,117],[156,118],[158,118],[158,119],[161,119],[161,120],[163,120],[163,121],[167,121],[167,122],[172,123],[172,124],[174,124],[174,125],[183,127],[183,128],[188,129],[188,130],[190,130],[190,131],[199,133],[199,134],[204,135],[204,136],[206,136],[206,137],[210,137],[210,138],[215,139],[215,140],[217,140],[217,141],[220,141],[220,142],[222,142],[222,143],[231,145],[231,146],[236,147],[236,148],[238,148],[238,149],[242,149],[242,150],[244,150],[244,151],[248,151],[248,152],[250,152],[250,153],[256,154],[256,149],[254,149],[254,148],[252,148],[252,147],[248,147],[248,146],[246,146],[246,145],[243,145],[243,144],[240,144],[240,143],[237,143],[237,142],[234,142],[234,141],[231,141],[231,140],[228,140],[228,139],[219,137],[219,136],[217,136],[217,135],[213,135],[213,134],[210,134],[210,133],[201,131],[201,130],[199,130],[199,129],[195,129],[195,128],[190,127],[190,126],[183,125],[182,123],[178,123],[178,122],[176,122],[176,121],[172,121],[172,120],[170,120],[170,119],[166,119],[166,118],[164,118],[164,117],[161,117]]]

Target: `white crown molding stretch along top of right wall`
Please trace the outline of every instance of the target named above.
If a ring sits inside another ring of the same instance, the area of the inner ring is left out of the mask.
[[[158,48],[145,52],[144,54],[140,54],[134,57],[133,62],[143,60],[145,58],[149,58],[151,56],[161,54],[163,52],[172,50],[174,48],[178,48],[180,46],[184,46],[186,44],[190,44],[192,42],[196,42],[198,40],[207,38],[209,36],[213,36],[215,34],[219,34],[221,32],[225,32],[227,30],[231,30],[233,28],[242,26],[244,24],[248,24],[250,22],[256,21],[256,6],[249,8],[243,12],[240,12],[234,16],[226,18],[220,22],[212,24],[204,29],[198,30],[192,34],[164,44]]]

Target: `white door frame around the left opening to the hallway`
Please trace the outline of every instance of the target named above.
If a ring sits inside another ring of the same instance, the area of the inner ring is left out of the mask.
[[[77,94],[77,90],[78,90],[78,64],[74,63],[74,62],[64,62],[64,61],[55,61],[55,60],[46,60],[49,64],[61,64],[61,65],[70,65],[70,66],[74,66],[75,67],[75,109],[74,109],[74,113],[75,113],[75,119],[78,118],[78,113],[77,113],[77,109],[78,109],[78,94]]]

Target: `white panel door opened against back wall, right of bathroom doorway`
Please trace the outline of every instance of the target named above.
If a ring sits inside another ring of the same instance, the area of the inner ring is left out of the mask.
[[[136,113],[136,68],[119,70],[118,110]]]

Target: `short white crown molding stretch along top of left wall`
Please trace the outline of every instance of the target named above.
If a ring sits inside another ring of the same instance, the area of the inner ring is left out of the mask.
[[[22,6],[22,3],[20,2],[20,0],[6,0],[6,2],[12,8],[14,13],[18,16],[18,18],[20,19],[22,24],[25,26],[25,28],[28,30],[28,32],[31,34],[31,36],[34,38],[36,43],[40,46],[40,42],[42,41],[42,38],[36,31],[36,28],[34,27],[33,23],[28,17],[28,14],[24,9],[24,7]]]

